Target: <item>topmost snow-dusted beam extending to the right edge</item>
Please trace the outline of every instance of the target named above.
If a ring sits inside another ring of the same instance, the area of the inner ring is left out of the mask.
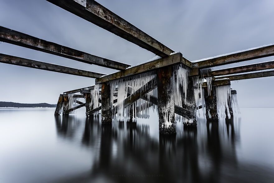
[[[206,60],[193,62],[193,68],[215,67],[219,65],[232,64],[257,58],[263,58],[274,55],[274,45],[259,47],[248,51],[242,51],[230,55],[220,56],[216,58],[209,58]]]

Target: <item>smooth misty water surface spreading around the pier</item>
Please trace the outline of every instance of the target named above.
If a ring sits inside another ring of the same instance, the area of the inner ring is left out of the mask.
[[[153,113],[102,126],[85,109],[0,109],[0,182],[274,182],[274,108],[240,109],[176,137]]]

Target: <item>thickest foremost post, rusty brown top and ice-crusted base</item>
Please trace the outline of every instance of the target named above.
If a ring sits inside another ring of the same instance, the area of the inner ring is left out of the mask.
[[[176,134],[172,66],[157,70],[159,133]],[[170,124],[170,125],[169,125]]]

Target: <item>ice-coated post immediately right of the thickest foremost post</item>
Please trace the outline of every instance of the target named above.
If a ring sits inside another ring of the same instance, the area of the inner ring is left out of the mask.
[[[184,122],[184,126],[197,126],[196,121],[196,102],[195,102],[195,95],[194,95],[194,87],[193,87],[193,77],[188,78],[187,83],[187,99],[185,99],[185,95],[183,93],[183,89],[181,89],[181,100],[182,100],[182,108],[187,109],[190,111],[190,114],[187,115],[187,119],[191,121],[189,123],[188,121]]]

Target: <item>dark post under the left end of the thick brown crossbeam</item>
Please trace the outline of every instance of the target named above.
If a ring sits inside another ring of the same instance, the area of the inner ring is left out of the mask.
[[[112,113],[111,113],[111,101],[110,101],[111,89],[110,83],[102,83],[102,114],[101,121],[102,124],[107,124],[112,122]]]

